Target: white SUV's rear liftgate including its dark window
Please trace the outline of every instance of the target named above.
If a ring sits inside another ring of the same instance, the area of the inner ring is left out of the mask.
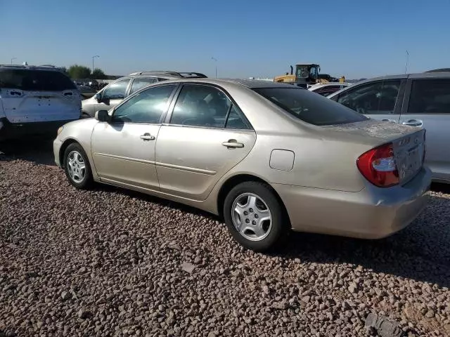
[[[75,84],[56,70],[1,69],[0,98],[11,123],[79,119]]]

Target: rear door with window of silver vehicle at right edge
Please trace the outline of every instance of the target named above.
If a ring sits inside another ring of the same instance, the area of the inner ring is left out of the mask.
[[[450,78],[413,78],[406,86],[401,124],[425,128],[425,162],[433,178],[450,179]]]

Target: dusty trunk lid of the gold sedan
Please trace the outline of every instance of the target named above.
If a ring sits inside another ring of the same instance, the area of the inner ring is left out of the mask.
[[[340,138],[347,138],[373,147],[392,143],[400,185],[408,183],[422,169],[425,154],[424,128],[373,119],[322,127],[342,135]]]

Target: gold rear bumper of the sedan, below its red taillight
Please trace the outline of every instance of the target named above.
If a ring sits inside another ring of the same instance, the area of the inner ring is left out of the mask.
[[[293,230],[362,239],[387,237],[409,225],[425,209],[431,171],[423,168],[404,186],[367,186],[360,192],[273,184]]]

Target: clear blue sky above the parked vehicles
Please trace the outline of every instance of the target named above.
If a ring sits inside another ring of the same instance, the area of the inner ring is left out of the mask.
[[[450,67],[450,1],[0,0],[0,63],[347,79]]]

